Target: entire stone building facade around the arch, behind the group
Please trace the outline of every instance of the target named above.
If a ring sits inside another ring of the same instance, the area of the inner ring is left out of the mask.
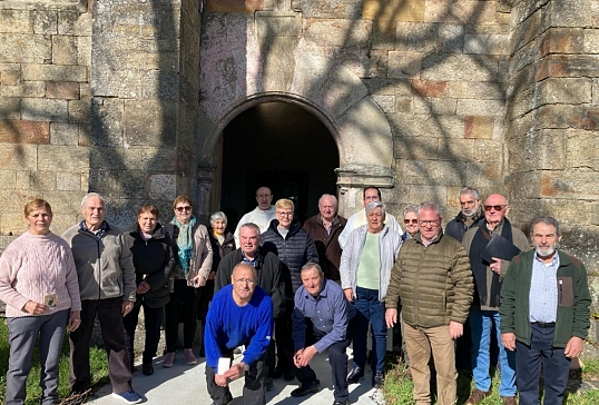
[[[365,185],[395,215],[435,200],[448,220],[464,185],[500,191],[524,230],[561,221],[598,292],[598,0],[2,0],[0,234],[23,231],[32,196],[60,231],[89,190],[125,226],[183,192],[206,215],[252,184],[223,180],[246,176],[226,172],[232,122],[273,106],[322,124],[310,142],[333,145],[342,214]],[[316,181],[326,158],[291,162],[244,122],[233,148],[264,155],[235,159]]]

